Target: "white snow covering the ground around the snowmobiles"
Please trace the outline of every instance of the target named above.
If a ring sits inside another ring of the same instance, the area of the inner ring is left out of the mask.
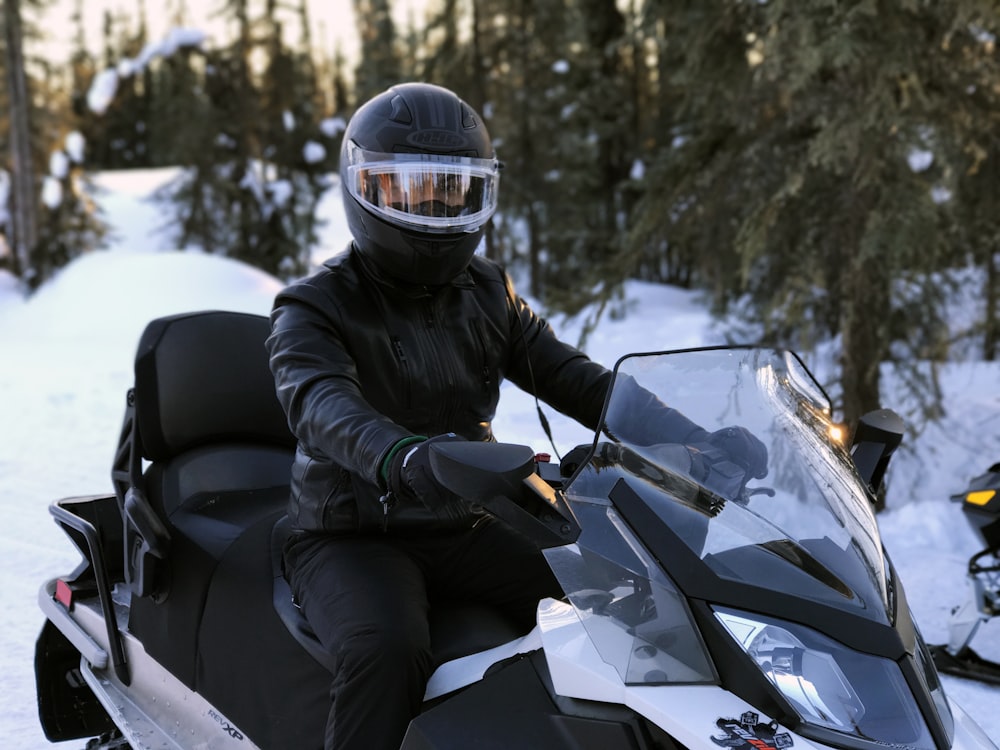
[[[144,200],[169,170],[101,175],[98,199],[115,228],[110,249],[73,263],[25,302],[0,274],[0,737],[4,747],[50,746],[34,703],[32,659],[42,624],[35,603],[43,580],[69,571],[77,556],[48,515],[62,496],[110,491],[110,468],[131,384],[134,347],[159,315],[222,308],[266,314],[280,284],[241,264],[170,249],[160,231],[166,214]],[[331,194],[323,212],[325,247],[347,241]],[[612,364],[628,351],[718,343],[704,308],[688,292],[629,286],[634,302],[623,320],[606,320],[586,349]],[[575,341],[573,321],[553,320]],[[950,610],[965,596],[965,564],[979,548],[947,497],[1000,461],[1000,363],[954,365],[942,375],[946,420],[898,456],[889,510],[880,523],[928,642],[946,640]],[[886,406],[895,406],[886,398]],[[548,450],[534,404],[513,387],[495,424],[503,440]],[[582,428],[546,410],[557,447],[586,440]],[[1000,660],[1000,618],[975,642]],[[948,694],[1000,743],[1000,688],[945,678]],[[65,743],[82,747],[82,742]]]

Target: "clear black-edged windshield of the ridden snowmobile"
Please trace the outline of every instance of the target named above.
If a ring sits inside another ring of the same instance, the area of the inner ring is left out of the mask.
[[[660,437],[666,405],[709,433],[745,428],[767,449],[766,476],[706,477],[696,448]],[[586,516],[579,546],[639,565],[611,549],[621,544],[609,529],[619,521],[594,519],[638,504],[642,517],[626,520],[650,534],[656,526],[704,563],[686,568],[707,567],[710,579],[746,586],[744,594],[780,591],[891,624],[874,511],[839,432],[822,389],[790,353],[629,355],[616,367],[594,455],[567,487],[574,512]]]

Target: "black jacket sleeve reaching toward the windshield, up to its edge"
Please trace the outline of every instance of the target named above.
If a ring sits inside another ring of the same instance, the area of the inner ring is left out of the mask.
[[[519,388],[590,429],[597,429],[611,371],[559,339],[506,278],[513,343],[508,377]]]

